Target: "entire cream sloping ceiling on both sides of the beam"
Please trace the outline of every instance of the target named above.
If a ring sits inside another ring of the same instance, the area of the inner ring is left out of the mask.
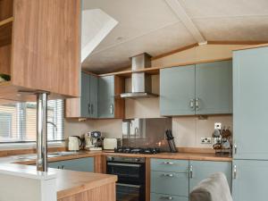
[[[206,40],[268,40],[268,0],[169,1],[179,1]],[[84,9],[96,8],[119,23],[82,64],[88,71],[117,71],[130,56],[197,43],[165,0],[84,0]]]

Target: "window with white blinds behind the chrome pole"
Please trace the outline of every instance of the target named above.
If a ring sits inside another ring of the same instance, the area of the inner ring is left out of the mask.
[[[47,140],[63,140],[63,100],[47,103]],[[0,105],[0,143],[35,142],[37,138],[37,103]]]

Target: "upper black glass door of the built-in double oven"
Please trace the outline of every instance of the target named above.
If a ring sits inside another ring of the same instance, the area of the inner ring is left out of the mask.
[[[107,173],[118,176],[118,183],[145,183],[145,163],[107,162]]]

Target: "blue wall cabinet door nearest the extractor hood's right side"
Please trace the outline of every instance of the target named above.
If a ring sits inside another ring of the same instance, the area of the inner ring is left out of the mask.
[[[195,65],[160,70],[161,115],[195,114]]]

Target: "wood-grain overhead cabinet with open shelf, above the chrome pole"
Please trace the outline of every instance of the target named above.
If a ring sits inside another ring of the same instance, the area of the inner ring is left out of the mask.
[[[80,96],[80,0],[0,0],[0,99]]]

